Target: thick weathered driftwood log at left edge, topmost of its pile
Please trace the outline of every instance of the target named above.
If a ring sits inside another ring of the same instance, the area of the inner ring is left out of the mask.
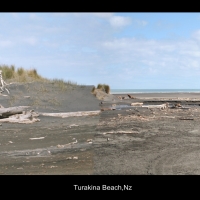
[[[17,107],[9,107],[9,108],[1,108],[0,107],[0,117],[6,118],[15,114],[22,114],[30,106],[17,106]]]

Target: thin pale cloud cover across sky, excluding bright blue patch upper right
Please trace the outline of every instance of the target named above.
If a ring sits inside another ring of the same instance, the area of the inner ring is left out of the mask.
[[[134,32],[148,22],[118,13],[17,13],[22,20],[13,17],[0,20],[2,30],[7,31],[0,35],[0,47],[6,47],[0,48],[1,62],[33,66],[44,76],[49,69],[52,78],[56,75],[82,83],[87,79],[88,84],[117,84],[115,80],[127,84],[153,76],[200,74],[200,30],[189,39],[157,40],[131,34],[121,37],[120,28],[132,23]],[[38,17],[41,20],[35,20]]]

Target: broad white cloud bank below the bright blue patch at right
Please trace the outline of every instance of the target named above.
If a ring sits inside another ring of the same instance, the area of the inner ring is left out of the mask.
[[[200,73],[200,44],[188,40],[118,38],[102,43],[109,62],[123,66],[125,77],[134,74],[191,75]],[[128,70],[130,69],[130,70]]]

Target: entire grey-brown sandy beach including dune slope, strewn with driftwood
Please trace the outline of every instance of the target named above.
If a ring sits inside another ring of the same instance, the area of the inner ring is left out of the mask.
[[[0,174],[200,174],[199,93],[98,99],[92,88],[12,84],[0,104],[29,106],[39,121],[0,122]],[[88,111],[94,113],[84,115]]]

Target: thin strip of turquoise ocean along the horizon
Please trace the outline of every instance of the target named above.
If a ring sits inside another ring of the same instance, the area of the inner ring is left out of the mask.
[[[200,89],[111,89],[110,94],[128,93],[200,93]]]

